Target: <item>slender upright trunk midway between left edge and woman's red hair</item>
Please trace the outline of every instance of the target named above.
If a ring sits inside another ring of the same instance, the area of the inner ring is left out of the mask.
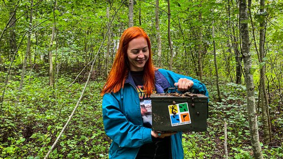
[[[54,86],[54,73],[53,73],[53,55],[52,55],[52,47],[53,47],[53,42],[54,42],[54,36],[55,36],[55,9],[57,6],[57,0],[55,0],[54,2],[54,10],[53,10],[53,16],[54,16],[54,24],[52,27],[52,35],[51,35],[51,39],[50,39],[50,45],[49,45],[49,85],[50,86]]]

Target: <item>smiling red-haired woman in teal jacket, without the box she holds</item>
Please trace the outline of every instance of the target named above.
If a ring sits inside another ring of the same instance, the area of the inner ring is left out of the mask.
[[[189,89],[208,96],[197,79],[154,68],[147,34],[140,27],[126,29],[101,92],[105,132],[113,140],[110,159],[184,157],[182,132],[151,130],[150,95],[174,86],[181,92]]]

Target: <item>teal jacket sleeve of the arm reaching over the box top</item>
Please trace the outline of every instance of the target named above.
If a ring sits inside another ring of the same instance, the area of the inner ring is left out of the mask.
[[[165,78],[169,80],[171,87],[175,87],[174,83],[178,82],[178,80],[181,78],[190,79],[194,82],[194,85],[190,88],[190,92],[196,93],[196,94],[203,94],[208,97],[208,91],[206,89],[205,84],[201,83],[198,79],[193,79],[189,76],[176,74],[172,71],[165,70],[165,69],[158,69],[158,71],[160,71],[165,76]]]

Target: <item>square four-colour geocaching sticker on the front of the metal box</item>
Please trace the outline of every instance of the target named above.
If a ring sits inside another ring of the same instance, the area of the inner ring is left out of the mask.
[[[171,126],[191,124],[188,103],[180,103],[168,106]]]

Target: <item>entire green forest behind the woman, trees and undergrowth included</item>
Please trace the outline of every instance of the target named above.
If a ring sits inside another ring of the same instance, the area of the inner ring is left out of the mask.
[[[283,158],[283,0],[0,0],[0,159],[107,159],[100,92],[119,38],[204,83],[185,159]]]

